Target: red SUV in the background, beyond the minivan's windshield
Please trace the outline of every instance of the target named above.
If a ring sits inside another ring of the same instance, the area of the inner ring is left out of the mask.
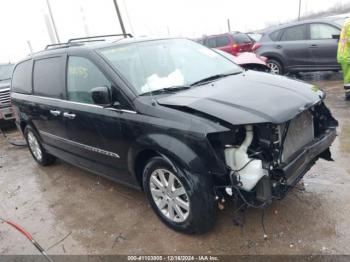
[[[217,48],[232,55],[241,52],[252,52],[254,41],[246,34],[240,32],[205,36],[202,44],[210,48]]]

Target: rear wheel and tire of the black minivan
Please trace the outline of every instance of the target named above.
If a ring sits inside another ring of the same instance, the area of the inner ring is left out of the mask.
[[[55,157],[47,153],[42,146],[38,134],[30,126],[24,129],[24,137],[34,160],[42,166],[48,166],[55,162]]]

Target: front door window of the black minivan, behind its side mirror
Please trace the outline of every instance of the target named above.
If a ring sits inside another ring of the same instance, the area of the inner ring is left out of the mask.
[[[111,87],[111,82],[88,59],[71,56],[67,69],[68,100],[93,104],[90,91],[94,87]]]

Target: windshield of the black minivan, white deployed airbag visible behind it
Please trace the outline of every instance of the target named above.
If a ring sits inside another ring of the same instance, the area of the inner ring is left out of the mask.
[[[145,41],[108,47],[99,52],[139,95],[242,71],[220,54],[187,39]]]

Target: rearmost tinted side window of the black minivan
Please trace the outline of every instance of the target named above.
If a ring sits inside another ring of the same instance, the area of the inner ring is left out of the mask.
[[[32,93],[31,85],[32,61],[18,64],[13,72],[12,91],[17,93]]]

